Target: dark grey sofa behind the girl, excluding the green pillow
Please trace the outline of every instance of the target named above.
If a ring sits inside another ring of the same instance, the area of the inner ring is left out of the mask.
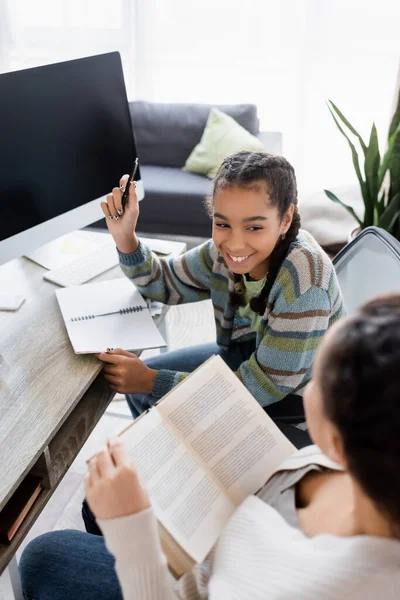
[[[281,134],[259,131],[257,108],[253,104],[131,102],[129,107],[145,190],[145,198],[140,203],[139,231],[210,236],[211,221],[203,202],[211,181],[186,173],[182,167],[201,139],[212,106],[229,114],[262,139],[268,152],[281,152]]]

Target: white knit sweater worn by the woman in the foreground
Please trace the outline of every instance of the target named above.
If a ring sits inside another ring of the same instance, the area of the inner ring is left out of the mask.
[[[309,447],[279,470],[307,463],[337,468]],[[169,574],[152,509],[100,526],[125,600],[400,597],[400,542],[362,535],[308,538],[254,496],[237,509],[206,561],[179,582]]]

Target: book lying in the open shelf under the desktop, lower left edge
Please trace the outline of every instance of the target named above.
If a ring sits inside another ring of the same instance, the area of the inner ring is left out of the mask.
[[[27,475],[0,512],[0,543],[9,544],[42,490],[42,479]]]

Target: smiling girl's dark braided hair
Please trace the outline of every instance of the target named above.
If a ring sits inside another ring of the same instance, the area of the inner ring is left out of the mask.
[[[289,246],[297,238],[300,229],[300,215],[297,210],[297,184],[294,169],[283,156],[266,152],[238,152],[225,158],[214,179],[213,192],[207,199],[207,210],[210,216],[213,211],[215,194],[227,187],[236,185],[254,188],[264,184],[272,206],[276,206],[283,219],[290,206],[294,205],[292,223],[284,239],[279,239],[269,259],[269,271],[261,293],[250,301],[250,307],[260,315],[265,312],[265,305],[274,284],[279,268],[285,259]],[[261,187],[260,186],[260,187]],[[241,275],[234,273],[234,281],[238,284]],[[238,286],[235,285],[238,289]],[[233,294],[233,304],[243,304],[243,294]]]

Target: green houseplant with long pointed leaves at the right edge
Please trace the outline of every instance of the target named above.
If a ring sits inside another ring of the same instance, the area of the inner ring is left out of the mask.
[[[360,229],[377,225],[400,240],[400,91],[383,156],[379,151],[375,123],[372,124],[369,142],[366,144],[331,100],[328,101],[328,108],[351,149],[353,165],[364,201],[364,217],[360,219],[351,206],[342,202],[329,190],[324,190],[325,194],[330,200],[348,210],[358,222]],[[361,160],[354,142],[358,142],[360,146]]]

